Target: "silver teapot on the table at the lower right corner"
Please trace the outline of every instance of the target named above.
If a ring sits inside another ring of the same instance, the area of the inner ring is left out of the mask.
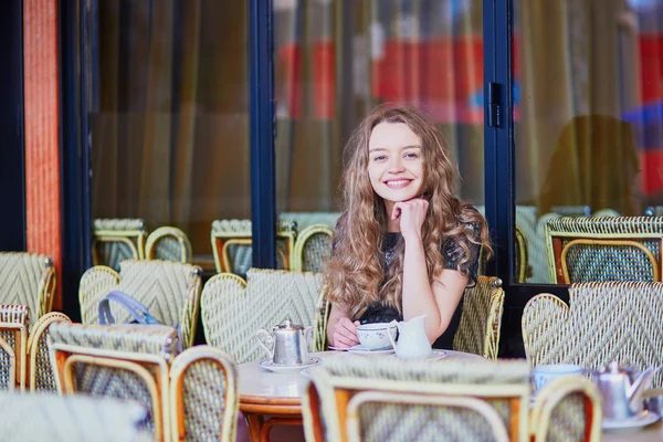
[[[654,370],[638,373],[635,367],[620,366],[615,360],[597,376],[603,397],[603,418],[621,421],[644,410],[643,393],[652,387]]]

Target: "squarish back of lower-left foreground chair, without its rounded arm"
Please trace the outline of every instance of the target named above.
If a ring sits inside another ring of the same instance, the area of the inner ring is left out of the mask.
[[[149,410],[147,429],[155,439],[171,440],[168,387],[175,328],[57,323],[49,330],[61,393],[136,400]]]

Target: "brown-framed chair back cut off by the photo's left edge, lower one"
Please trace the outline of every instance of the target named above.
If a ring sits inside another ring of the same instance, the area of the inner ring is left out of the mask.
[[[0,305],[0,389],[13,389],[25,380],[21,370],[24,375],[28,343],[21,345],[20,336],[27,339],[29,328],[30,309],[27,306]]]

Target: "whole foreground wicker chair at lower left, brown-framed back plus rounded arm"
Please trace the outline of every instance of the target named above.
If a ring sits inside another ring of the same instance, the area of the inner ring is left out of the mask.
[[[130,399],[148,410],[159,441],[234,441],[236,367],[209,346],[176,356],[167,326],[51,326],[51,357],[61,393]]]

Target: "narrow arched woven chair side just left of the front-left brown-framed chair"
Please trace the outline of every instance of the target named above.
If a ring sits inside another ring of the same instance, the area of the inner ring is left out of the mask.
[[[49,336],[51,336],[49,327],[53,323],[71,324],[72,322],[65,314],[51,312],[34,324],[29,341],[30,391],[54,392],[57,390],[48,346]]]

